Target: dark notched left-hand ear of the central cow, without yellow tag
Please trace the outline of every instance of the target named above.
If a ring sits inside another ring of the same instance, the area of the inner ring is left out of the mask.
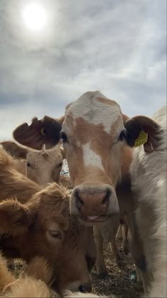
[[[41,120],[33,118],[32,123],[23,123],[13,131],[13,137],[30,148],[41,150],[45,143],[46,148],[52,148],[59,142],[59,132],[62,130],[63,117],[58,119],[45,116]]]

